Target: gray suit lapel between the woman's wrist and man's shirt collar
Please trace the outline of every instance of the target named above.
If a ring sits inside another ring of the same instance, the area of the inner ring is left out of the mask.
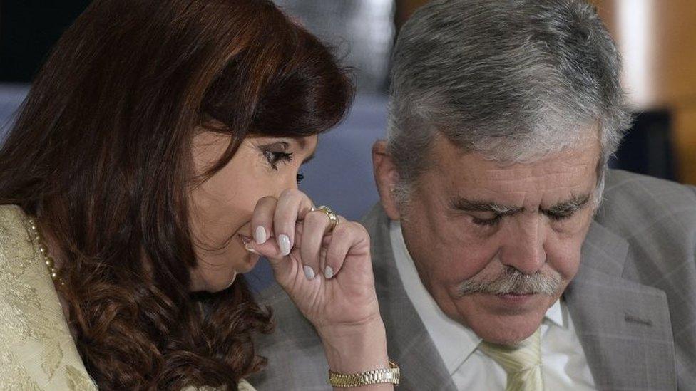
[[[399,278],[389,238],[389,217],[378,204],[363,224],[372,236],[372,267],[389,355],[403,374],[399,390],[456,390]]]

